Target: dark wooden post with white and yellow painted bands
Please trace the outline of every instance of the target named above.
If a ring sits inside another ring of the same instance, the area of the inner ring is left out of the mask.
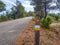
[[[39,14],[36,17],[35,21],[35,45],[39,45],[39,37],[40,37],[40,16]]]

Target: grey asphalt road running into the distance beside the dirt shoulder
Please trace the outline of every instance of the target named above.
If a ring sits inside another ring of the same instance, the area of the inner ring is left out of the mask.
[[[0,23],[0,45],[14,45],[16,38],[28,25],[32,17]]]

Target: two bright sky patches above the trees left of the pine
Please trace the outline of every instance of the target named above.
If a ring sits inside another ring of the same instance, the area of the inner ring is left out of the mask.
[[[16,2],[16,0],[2,0],[2,1],[6,4],[7,10],[9,10],[12,7],[12,5],[16,6],[16,4],[14,3],[14,2]],[[30,5],[30,1],[28,1],[28,0],[19,0],[19,1],[25,7],[25,10],[27,12],[34,11],[33,6]]]

